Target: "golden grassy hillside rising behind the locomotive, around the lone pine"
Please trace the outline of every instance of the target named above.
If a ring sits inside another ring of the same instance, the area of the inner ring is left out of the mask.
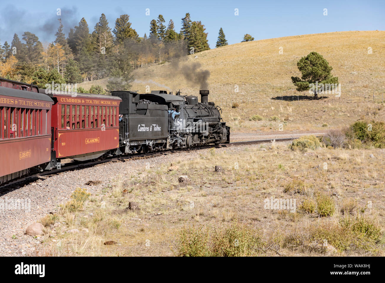
[[[280,47],[283,54],[279,54]],[[372,54],[368,54],[368,47],[372,48]],[[385,92],[384,47],[385,31],[319,33],[228,45],[198,53],[198,58],[190,55],[184,64],[199,62],[200,70],[210,71],[209,100],[224,108],[224,118],[233,127],[274,131],[279,123],[286,121],[285,130],[316,129],[324,124],[341,126],[372,113],[384,118],[383,111],[375,111],[376,105],[367,104],[373,100],[373,94],[375,102],[382,102]],[[311,51],[323,55],[333,67],[332,74],[341,83],[340,98],[329,95],[318,102],[298,101],[301,97],[296,95],[307,93],[295,90],[291,76],[300,76],[296,64]],[[199,85],[188,82],[171,63],[135,70],[134,77],[141,83],[132,83],[132,89],[141,92],[146,85],[164,89],[154,82],[174,91],[181,89],[182,94],[197,95],[199,91]],[[82,86],[105,87],[106,82],[104,79]],[[234,92],[236,85],[238,93]],[[290,102],[270,99],[281,96]],[[294,98],[296,101],[291,101]],[[231,108],[234,102],[239,107]],[[261,115],[263,121],[249,122],[254,114]],[[280,121],[269,122],[271,116],[278,116]]]

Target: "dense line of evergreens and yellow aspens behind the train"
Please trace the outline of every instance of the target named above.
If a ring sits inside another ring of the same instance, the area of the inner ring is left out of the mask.
[[[15,33],[11,44],[0,45],[0,77],[32,82],[39,87],[52,80],[62,84],[109,77],[108,90],[129,89],[132,69],[209,49],[204,25],[191,21],[189,13],[182,18],[179,33],[172,20],[167,27],[165,22],[159,15],[150,22],[149,37],[139,37],[129,15],[117,18],[111,29],[102,14],[92,33],[82,18],[66,37],[59,18],[54,42],[42,44],[37,35],[25,32],[24,42]],[[222,28],[220,36],[219,46],[227,45]]]

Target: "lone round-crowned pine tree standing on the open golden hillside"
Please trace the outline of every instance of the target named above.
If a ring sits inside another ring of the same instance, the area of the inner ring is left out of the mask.
[[[314,98],[317,98],[318,93],[322,90],[320,84],[338,84],[338,77],[331,75],[333,68],[317,52],[311,52],[306,57],[302,57],[298,61],[297,66],[302,73],[302,77],[301,79],[299,77],[291,77],[291,80],[298,91],[313,89]],[[318,87],[315,87],[316,83]]]

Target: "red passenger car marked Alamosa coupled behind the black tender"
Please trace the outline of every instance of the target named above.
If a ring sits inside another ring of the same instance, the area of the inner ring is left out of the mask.
[[[110,150],[119,153],[119,97],[98,94],[51,96],[54,100],[53,150],[58,162],[63,158],[95,159]],[[59,167],[60,163],[54,165]]]

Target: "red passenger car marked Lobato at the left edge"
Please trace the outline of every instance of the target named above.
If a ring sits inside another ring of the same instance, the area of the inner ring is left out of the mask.
[[[36,88],[33,91],[32,85],[1,83],[4,86],[0,86],[0,184],[27,174],[31,167],[50,162],[53,104],[48,95],[38,93]]]

